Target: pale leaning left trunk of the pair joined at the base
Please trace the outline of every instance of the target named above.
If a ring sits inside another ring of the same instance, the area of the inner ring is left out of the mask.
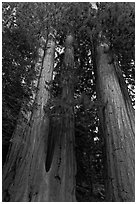
[[[7,162],[3,168],[3,201],[46,201],[45,144],[48,119],[44,106],[49,98],[45,81],[52,78],[55,42],[49,34],[38,91],[31,120],[23,134],[15,134]]]

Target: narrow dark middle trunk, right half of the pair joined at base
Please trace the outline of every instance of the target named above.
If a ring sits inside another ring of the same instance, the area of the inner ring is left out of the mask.
[[[52,118],[53,131],[49,138],[47,153],[48,201],[72,202],[75,198],[76,164],[74,155],[73,113],[73,47],[72,39],[66,39],[64,64],[62,66],[62,97],[58,115]],[[59,107],[58,107],[59,109]],[[56,140],[56,141],[55,141]],[[54,144],[54,145],[53,145]],[[54,149],[52,151],[52,148]],[[53,157],[53,159],[52,159]],[[52,159],[53,161],[50,161]]]

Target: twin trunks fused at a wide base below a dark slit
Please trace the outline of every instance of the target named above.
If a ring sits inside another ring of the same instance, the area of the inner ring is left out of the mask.
[[[55,42],[52,33],[48,36],[30,122],[23,134],[19,134],[21,128],[17,128],[3,168],[3,201],[76,200],[72,41],[72,36],[67,37],[62,66],[61,111],[49,116],[49,126],[45,112],[49,91],[45,86],[52,78]]]

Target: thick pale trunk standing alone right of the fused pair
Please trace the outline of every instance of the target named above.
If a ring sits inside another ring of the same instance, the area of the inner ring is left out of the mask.
[[[134,194],[134,109],[120,68],[106,51],[97,47],[97,95],[102,107],[100,121],[104,130],[107,156],[107,200],[133,202]]]

